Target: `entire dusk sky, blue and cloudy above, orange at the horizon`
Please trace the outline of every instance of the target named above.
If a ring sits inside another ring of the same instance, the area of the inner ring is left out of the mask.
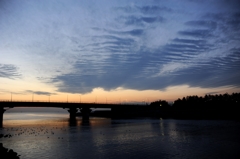
[[[239,0],[0,0],[0,100],[240,92]]]

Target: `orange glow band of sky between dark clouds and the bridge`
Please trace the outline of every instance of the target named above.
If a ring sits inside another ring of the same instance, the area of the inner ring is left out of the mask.
[[[132,90],[117,88],[106,91],[102,88],[95,88],[91,93],[72,94],[56,93],[54,95],[38,95],[34,93],[2,93],[0,100],[7,101],[41,101],[41,102],[78,102],[78,103],[131,103],[138,102],[142,104],[151,103],[156,100],[166,100],[173,102],[178,98],[185,96],[198,95],[204,96],[209,92],[218,92],[218,94],[239,92],[239,88],[219,87],[219,88],[200,88],[189,87],[188,85],[172,86],[165,90]]]

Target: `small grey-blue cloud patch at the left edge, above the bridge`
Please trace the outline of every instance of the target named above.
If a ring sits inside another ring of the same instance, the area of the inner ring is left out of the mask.
[[[18,68],[11,64],[0,64],[0,78],[16,79],[20,78],[21,74]]]

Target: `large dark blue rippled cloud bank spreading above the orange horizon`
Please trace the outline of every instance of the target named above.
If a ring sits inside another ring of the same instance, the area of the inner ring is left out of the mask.
[[[229,31],[219,31],[231,25],[237,28],[238,14],[230,20],[230,15],[222,16],[221,13],[181,21],[183,27],[176,29],[172,39],[149,48],[143,42],[153,38],[148,36],[148,31],[159,27],[155,25],[159,23],[161,27],[169,26],[171,19],[166,13],[172,14],[173,10],[154,6],[119,9],[125,14],[115,19],[120,19],[117,24],[123,28],[94,28],[100,33],[92,37],[95,42],[85,46],[101,60],[91,57],[83,62],[79,59],[73,64],[74,71],[54,77],[52,82],[58,91],[89,93],[99,87],[105,90],[119,87],[165,90],[169,86],[183,84],[207,88],[240,86],[240,74],[236,73],[240,69],[239,48],[235,44],[223,47],[218,43],[233,37]],[[167,21],[159,15],[160,12],[165,12]],[[156,40],[162,38],[166,37]]]

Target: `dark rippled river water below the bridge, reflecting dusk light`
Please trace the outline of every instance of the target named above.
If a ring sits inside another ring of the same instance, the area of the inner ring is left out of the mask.
[[[68,114],[10,112],[0,134],[20,158],[239,159],[240,122],[233,120],[81,118]],[[1,157],[0,157],[1,158]]]

